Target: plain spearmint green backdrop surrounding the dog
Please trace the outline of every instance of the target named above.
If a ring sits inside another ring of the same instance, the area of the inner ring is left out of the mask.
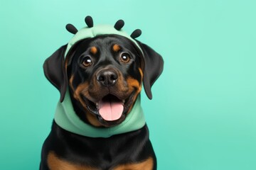
[[[85,26],[125,21],[164,57],[143,107],[160,170],[256,169],[256,1],[0,1],[0,169],[38,169],[59,94],[43,62]],[[103,144],[104,145],[104,144]]]

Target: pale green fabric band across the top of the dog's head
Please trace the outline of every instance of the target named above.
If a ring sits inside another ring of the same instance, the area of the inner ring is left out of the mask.
[[[134,42],[137,47],[139,47],[138,43],[136,40],[131,38],[130,35],[128,35],[124,30],[116,30],[114,26],[111,25],[98,25],[98,26],[93,26],[92,28],[82,28],[74,35],[74,37],[68,42],[68,47],[65,51],[65,56],[68,54],[68,51],[70,50],[70,47],[72,47],[75,42],[78,42],[79,40],[85,39],[85,38],[94,38],[97,35],[110,35],[110,34],[116,34],[116,35],[122,35],[125,38],[128,38],[132,42]],[[139,47],[139,50],[142,51],[142,49]],[[143,52],[142,52],[143,54]]]

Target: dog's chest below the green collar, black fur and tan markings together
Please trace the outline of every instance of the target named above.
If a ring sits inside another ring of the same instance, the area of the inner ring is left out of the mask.
[[[148,157],[146,145],[149,139],[146,126],[136,132],[112,137],[82,137],[80,135],[61,135],[49,141],[55,143],[50,150],[47,162],[50,169],[137,169],[153,164]],[[63,138],[64,137],[64,138]],[[61,155],[61,156],[59,156]],[[137,160],[136,163],[134,160]]]

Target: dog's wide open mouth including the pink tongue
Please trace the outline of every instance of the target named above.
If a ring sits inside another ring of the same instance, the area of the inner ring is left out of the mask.
[[[97,115],[100,122],[105,123],[120,123],[126,117],[127,111],[132,106],[133,95],[127,99],[121,99],[113,94],[107,94],[100,101],[94,103],[83,97],[87,108],[90,112]]]

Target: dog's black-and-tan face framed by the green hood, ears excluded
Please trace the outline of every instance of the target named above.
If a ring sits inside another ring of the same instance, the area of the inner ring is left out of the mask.
[[[127,38],[101,36],[82,40],[66,58],[70,94],[95,126],[121,123],[142,87],[142,65]]]

